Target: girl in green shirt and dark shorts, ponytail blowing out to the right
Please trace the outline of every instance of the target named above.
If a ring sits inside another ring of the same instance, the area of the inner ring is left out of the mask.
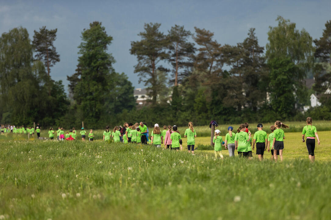
[[[276,130],[273,132],[274,138],[273,138],[272,145],[274,147],[273,158],[275,159],[275,162],[277,162],[277,159],[278,159],[277,150],[279,150],[280,161],[283,161],[283,149],[284,149],[284,139],[285,139],[284,131],[280,128],[281,127],[290,128],[290,127],[287,126],[286,124],[283,124],[280,121],[275,122],[275,127],[276,127]]]

